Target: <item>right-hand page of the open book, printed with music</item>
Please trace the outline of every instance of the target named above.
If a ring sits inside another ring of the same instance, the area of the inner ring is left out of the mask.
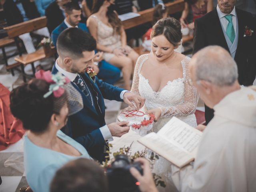
[[[173,117],[168,123],[166,123],[157,134],[164,137],[177,147],[180,147],[186,152],[192,154],[194,158],[202,137],[202,132],[189,126],[176,117]]]

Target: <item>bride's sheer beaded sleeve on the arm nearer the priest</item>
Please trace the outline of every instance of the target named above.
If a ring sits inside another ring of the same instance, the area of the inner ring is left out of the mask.
[[[185,77],[184,80],[184,87],[185,87],[185,94],[183,98],[183,103],[180,105],[176,105],[170,108],[160,108],[162,111],[161,116],[186,116],[193,114],[196,111],[196,106],[198,102],[198,93],[194,86],[190,86],[188,83],[189,78],[189,58],[185,58],[183,60],[182,66],[184,67],[183,76]]]

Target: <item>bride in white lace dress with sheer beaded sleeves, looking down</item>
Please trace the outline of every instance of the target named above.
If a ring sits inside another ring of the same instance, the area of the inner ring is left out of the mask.
[[[145,107],[148,113],[154,113],[156,123],[152,131],[158,132],[173,116],[196,127],[194,112],[198,94],[188,83],[190,58],[176,52],[182,34],[180,22],[174,18],[159,20],[152,30],[152,51],[138,58],[134,70],[132,92],[146,98]],[[167,184],[160,191],[170,191],[170,162],[160,158],[153,172],[162,176]]]

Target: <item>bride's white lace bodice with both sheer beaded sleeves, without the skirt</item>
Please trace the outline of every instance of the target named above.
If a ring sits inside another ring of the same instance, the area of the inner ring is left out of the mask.
[[[150,86],[148,80],[140,74],[143,63],[148,59],[148,54],[140,56],[137,60],[131,92],[146,98],[145,106],[148,110],[160,108],[162,117],[187,116],[194,114],[198,102],[196,88],[188,84],[190,58],[181,61],[183,77],[168,81],[158,92]]]

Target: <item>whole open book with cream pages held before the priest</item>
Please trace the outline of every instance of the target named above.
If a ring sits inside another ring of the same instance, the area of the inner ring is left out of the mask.
[[[151,132],[138,142],[181,168],[196,157],[202,134],[173,117],[157,133]]]

